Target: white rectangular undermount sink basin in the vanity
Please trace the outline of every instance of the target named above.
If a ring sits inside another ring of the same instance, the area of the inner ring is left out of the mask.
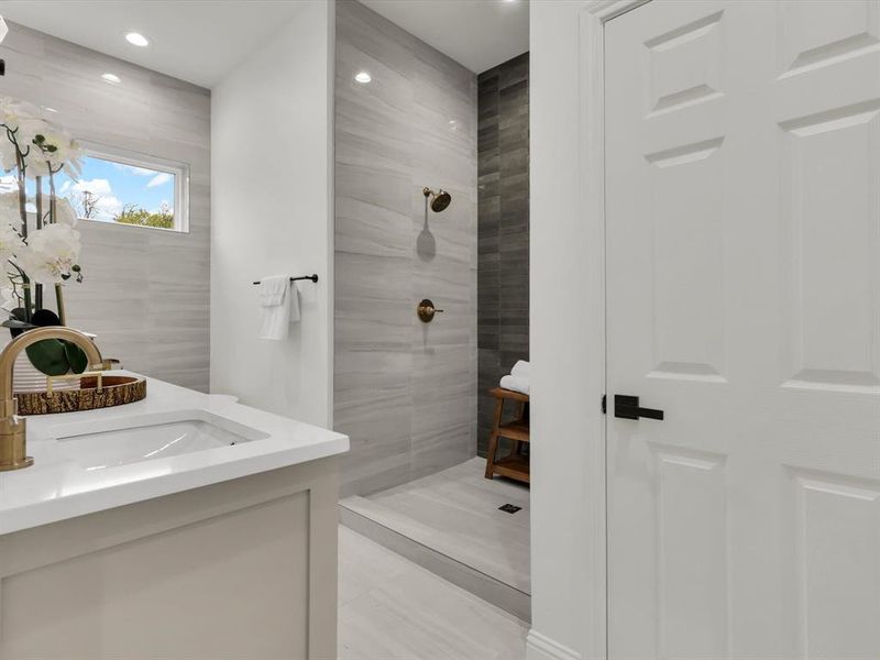
[[[99,428],[84,422],[59,425],[52,436],[65,458],[88,471],[268,438],[267,433],[205,410],[108,420]]]

